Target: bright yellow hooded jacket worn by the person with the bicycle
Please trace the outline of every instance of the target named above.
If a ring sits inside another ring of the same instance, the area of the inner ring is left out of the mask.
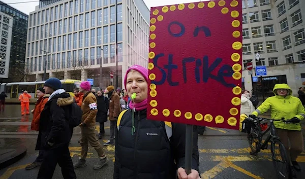
[[[287,89],[287,96],[279,96],[277,89]],[[271,110],[271,119],[285,120],[297,117],[302,120],[305,117],[304,106],[302,105],[299,98],[292,96],[292,90],[287,84],[276,84],[273,88],[275,96],[268,97],[252,114],[258,116],[259,114]],[[282,121],[274,121],[276,128],[287,129],[287,130],[301,130],[300,123],[298,124],[285,124]]]

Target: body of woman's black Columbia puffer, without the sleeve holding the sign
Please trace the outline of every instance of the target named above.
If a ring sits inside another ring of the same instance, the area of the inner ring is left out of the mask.
[[[134,118],[133,135],[128,110],[115,136],[114,178],[174,179],[177,167],[164,122],[147,120],[146,110],[135,112]]]

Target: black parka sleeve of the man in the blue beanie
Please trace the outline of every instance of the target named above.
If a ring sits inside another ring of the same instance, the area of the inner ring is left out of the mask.
[[[62,107],[56,104],[56,100],[53,100],[50,105],[50,112],[52,126],[47,140],[50,142],[56,142],[56,138],[60,137],[60,134],[62,134],[66,125],[65,111]]]

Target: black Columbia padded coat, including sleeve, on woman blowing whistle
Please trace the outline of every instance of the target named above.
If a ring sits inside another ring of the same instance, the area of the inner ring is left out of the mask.
[[[186,125],[172,123],[169,139],[165,123],[147,120],[146,110],[142,110],[134,113],[132,135],[132,113],[132,110],[124,113],[115,134],[113,178],[176,178],[177,169],[185,167]],[[197,141],[197,126],[194,126],[192,169],[199,172]]]

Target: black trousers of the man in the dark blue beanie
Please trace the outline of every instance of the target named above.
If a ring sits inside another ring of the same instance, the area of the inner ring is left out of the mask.
[[[43,151],[43,161],[37,179],[51,179],[57,163],[62,168],[65,179],[76,179],[68,146],[69,144],[66,144],[62,147]]]

